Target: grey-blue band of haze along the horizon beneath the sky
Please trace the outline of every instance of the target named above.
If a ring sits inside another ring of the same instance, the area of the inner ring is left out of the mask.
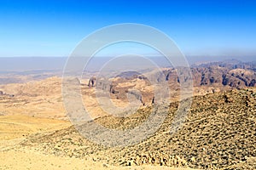
[[[66,65],[68,57],[0,57],[0,71],[62,71]],[[102,64],[107,62],[113,57],[94,57],[94,62],[89,68],[101,69]],[[204,56],[187,56],[189,65],[207,62],[221,62],[230,59],[237,59],[241,62],[256,61],[253,57],[204,57]],[[166,66],[166,59],[163,57],[150,56],[148,59],[152,59],[160,67]],[[94,69],[92,69],[94,70]]]

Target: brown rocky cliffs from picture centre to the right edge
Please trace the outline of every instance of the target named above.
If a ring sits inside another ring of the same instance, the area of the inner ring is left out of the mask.
[[[236,60],[215,62],[201,65],[192,65],[190,68],[193,77],[195,95],[209,94],[224,91],[230,88],[256,87],[256,65],[241,63]],[[181,75],[186,75],[183,68],[177,68]],[[108,83],[99,78],[97,86],[110,93],[114,99],[127,99],[127,94],[132,94],[142,104],[150,104],[154,99],[154,86],[149,80],[167,82],[172,91],[172,97],[179,95],[180,83],[189,77],[178,77],[177,69],[162,69],[164,78],[157,71],[148,71],[140,74],[136,71],[125,71]],[[183,78],[183,81],[182,81]],[[139,93],[132,90],[137,89]],[[131,91],[129,91],[131,90]]]

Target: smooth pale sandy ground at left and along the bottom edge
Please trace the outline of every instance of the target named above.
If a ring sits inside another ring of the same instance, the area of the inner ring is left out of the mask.
[[[0,169],[177,169],[150,165],[116,167],[95,161],[91,157],[84,159],[55,156],[22,147],[20,143],[26,138],[33,138],[33,135],[47,135],[72,126],[61,103],[61,78],[51,77],[43,81],[7,84],[3,85],[1,90],[5,95],[1,96],[0,105]],[[92,88],[86,90],[93,91]],[[90,105],[97,115],[101,114],[101,109],[95,107],[96,101],[92,97],[87,105]]]

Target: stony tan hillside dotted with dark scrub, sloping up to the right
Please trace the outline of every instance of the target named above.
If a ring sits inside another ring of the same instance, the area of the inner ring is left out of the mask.
[[[157,133],[140,144],[108,148],[79,135],[74,127],[50,134],[35,134],[22,147],[55,156],[92,157],[107,165],[162,165],[211,169],[256,168],[256,90],[231,90],[196,96],[183,128],[171,135],[170,126],[177,103]],[[151,111],[146,107],[126,118],[105,116],[96,122],[109,128],[131,128]]]

